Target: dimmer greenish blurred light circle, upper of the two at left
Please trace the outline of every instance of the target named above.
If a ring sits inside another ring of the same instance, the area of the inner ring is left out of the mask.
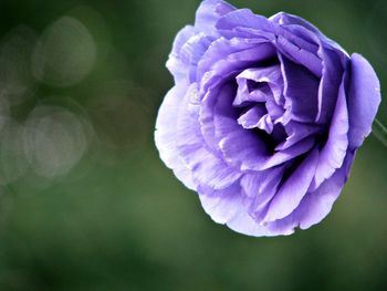
[[[93,69],[96,45],[79,20],[62,17],[40,38],[33,55],[34,76],[51,86],[67,87],[81,82]]]

